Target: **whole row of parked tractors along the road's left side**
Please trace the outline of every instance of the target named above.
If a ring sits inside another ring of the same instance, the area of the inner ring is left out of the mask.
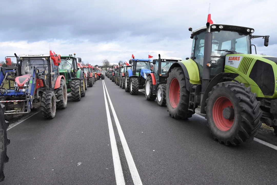
[[[67,95],[72,101],[80,101],[86,95],[88,87],[104,79],[97,67],[82,66],[80,57],[72,54],[60,56],[50,51],[49,55],[20,55],[16,65],[11,64],[11,57],[6,57],[6,66],[0,68],[0,181],[4,180],[8,120],[16,114],[28,114],[33,108],[41,107],[42,116],[52,119],[56,109],[65,109]]]

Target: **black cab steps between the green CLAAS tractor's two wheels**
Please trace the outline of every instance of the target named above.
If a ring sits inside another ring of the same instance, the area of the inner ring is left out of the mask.
[[[189,91],[189,108],[188,110],[193,111],[195,113],[195,109],[198,107],[200,103],[200,91],[201,84],[193,84],[190,87]]]

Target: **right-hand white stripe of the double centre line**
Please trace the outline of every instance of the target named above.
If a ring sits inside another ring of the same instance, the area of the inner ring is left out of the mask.
[[[129,149],[128,144],[127,144],[127,141],[126,141],[125,136],[123,134],[123,131],[121,129],[120,123],[119,123],[117,115],[116,115],[116,111],[114,110],[114,106],[112,105],[112,101],[111,101],[111,98],[109,96],[109,93],[108,93],[105,82],[104,82],[104,85],[105,85],[105,88],[106,88],[109,103],[111,105],[112,114],[114,115],[114,120],[116,122],[116,127],[117,127],[117,131],[119,133],[120,141],[121,141],[121,144],[123,146],[124,153],[125,153],[125,156],[126,156],[126,160],[127,160],[127,163],[128,163],[129,169],[130,169],[130,173],[131,173],[132,178],[133,178],[134,185],[142,184],[140,176],[139,176],[139,172],[137,171],[134,159],[132,157],[132,154],[131,154],[130,149]]]

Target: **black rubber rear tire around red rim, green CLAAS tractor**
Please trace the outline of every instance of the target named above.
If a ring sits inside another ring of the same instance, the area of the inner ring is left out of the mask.
[[[179,103],[176,108],[173,108],[169,100],[169,90],[171,81],[177,78],[180,86],[180,98]],[[188,110],[189,106],[189,91],[186,89],[186,77],[181,67],[175,67],[169,73],[166,84],[166,105],[168,112],[172,118],[176,119],[186,119],[191,118],[194,114],[192,111]]]

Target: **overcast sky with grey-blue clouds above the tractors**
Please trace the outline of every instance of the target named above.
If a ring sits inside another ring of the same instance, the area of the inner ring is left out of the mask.
[[[218,24],[252,27],[257,53],[276,56],[276,0],[3,0],[0,11],[0,60],[16,54],[76,53],[84,62],[125,61],[148,52],[190,56],[189,27],[197,29],[211,15]]]

